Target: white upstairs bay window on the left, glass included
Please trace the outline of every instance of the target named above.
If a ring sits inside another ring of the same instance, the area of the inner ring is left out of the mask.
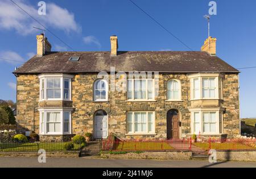
[[[66,74],[40,75],[40,100],[71,100],[72,77]]]

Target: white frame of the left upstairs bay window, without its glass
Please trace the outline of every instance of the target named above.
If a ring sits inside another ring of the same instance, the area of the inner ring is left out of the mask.
[[[41,74],[38,77],[40,80],[39,101],[72,101],[72,78],[74,76],[68,74]],[[49,78],[60,78],[60,98],[47,98],[47,79]],[[65,80],[69,82],[68,99],[64,98]]]

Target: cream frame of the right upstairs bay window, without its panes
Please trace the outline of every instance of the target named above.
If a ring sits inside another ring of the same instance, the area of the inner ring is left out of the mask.
[[[212,74],[212,73],[198,73],[192,74],[188,76],[190,78],[191,83],[191,101],[193,100],[204,100],[204,99],[222,99],[222,78],[224,76],[222,74]],[[203,78],[214,78],[214,97],[203,97]],[[194,80],[199,80],[199,98],[195,97],[195,88],[194,88]]]

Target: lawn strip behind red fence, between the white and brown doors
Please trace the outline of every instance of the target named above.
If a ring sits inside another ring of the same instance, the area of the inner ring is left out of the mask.
[[[117,151],[158,151],[174,149],[166,142],[155,141],[120,141],[114,148]]]

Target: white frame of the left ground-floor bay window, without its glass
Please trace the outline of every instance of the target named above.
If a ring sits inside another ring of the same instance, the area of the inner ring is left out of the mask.
[[[73,109],[39,109],[39,134],[40,135],[72,134],[72,110]],[[66,112],[69,113],[68,132],[64,132],[64,113]],[[47,132],[47,113],[60,113],[60,132]]]

